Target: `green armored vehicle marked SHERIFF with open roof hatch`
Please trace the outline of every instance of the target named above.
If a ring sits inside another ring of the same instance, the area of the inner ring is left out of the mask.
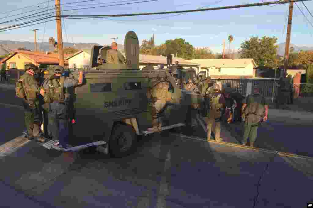
[[[136,148],[136,135],[148,135],[155,114],[156,100],[166,100],[164,108],[156,115],[162,120],[162,130],[188,123],[187,112],[198,108],[200,96],[188,93],[174,82],[174,76],[193,76],[191,69],[139,70],[139,41],[133,31],[125,37],[125,60],[116,56],[118,51],[108,46],[93,46],[90,68],[85,72],[83,84],[74,89],[75,124],[70,144],[74,147],[61,151],[77,151],[96,146],[100,152],[122,157]],[[108,54],[116,63],[107,63]],[[116,60],[116,59],[115,59]],[[174,72],[175,71],[175,72]],[[177,72],[178,71],[178,72]],[[78,79],[79,70],[71,72]],[[160,83],[168,83],[162,85]],[[164,86],[168,86],[164,88]],[[51,141],[42,144],[56,148]]]

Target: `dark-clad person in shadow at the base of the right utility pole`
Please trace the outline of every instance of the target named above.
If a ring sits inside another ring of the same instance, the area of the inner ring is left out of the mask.
[[[289,79],[287,78],[287,72],[284,72],[284,76],[280,77],[278,81],[278,95],[276,98],[276,108],[279,108],[280,105],[284,105],[288,103],[290,98],[290,83]]]

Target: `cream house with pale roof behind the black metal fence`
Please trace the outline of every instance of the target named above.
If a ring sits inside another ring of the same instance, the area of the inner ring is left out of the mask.
[[[197,73],[207,71],[213,79],[253,78],[257,67],[253,59],[192,59],[190,62],[200,65]]]

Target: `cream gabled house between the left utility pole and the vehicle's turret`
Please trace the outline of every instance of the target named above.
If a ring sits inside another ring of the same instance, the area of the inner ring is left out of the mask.
[[[84,49],[78,51],[72,56],[68,56],[66,60],[69,62],[69,68],[84,68],[89,67],[91,50]]]

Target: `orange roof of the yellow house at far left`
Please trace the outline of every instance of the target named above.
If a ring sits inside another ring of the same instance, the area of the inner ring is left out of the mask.
[[[16,54],[21,54],[23,56],[26,56],[28,59],[30,59],[31,61],[37,64],[58,64],[59,63],[59,54],[57,53],[46,54],[44,52],[20,51],[20,50],[14,51],[13,54],[3,59],[1,63],[3,63],[4,61],[8,61],[10,58],[15,56]],[[68,56],[71,56],[71,54],[64,54],[65,59]],[[68,64],[68,61],[64,60],[64,63]]]

